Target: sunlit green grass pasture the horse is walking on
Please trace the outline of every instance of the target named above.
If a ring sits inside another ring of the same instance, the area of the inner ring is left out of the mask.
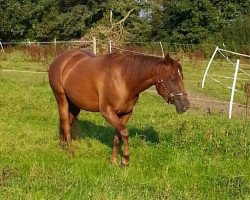
[[[205,64],[182,64],[187,92],[228,100],[230,91],[220,85],[198,87]],[[43,68],[19,55],[0,65]],[[218,71],[231,74],[226,64]],[[242,94],[235,98],[245,101]],[[47,74],[2,71],[0,199],[249,199],[249,119],[241,113],[229,120],[227,110],[203,102],[207,113],[191,102],[179,115],[153,89],[144,92],[128,122],[130,166],[122,168],[110,165],[114,130],[98,113],[81,111],[71,158],[59,147]]]

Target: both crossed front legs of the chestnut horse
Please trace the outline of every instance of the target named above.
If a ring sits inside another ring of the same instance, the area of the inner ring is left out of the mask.
[[[119,148],[119,137],[123,139],[124,149],[122,156],[122,164],[129,164],[129,146],[128,146],[128,130],[126,129],[126,122],[128,121],[131,113],[129,115],[124,115],[121,119],[113,111],[111,107],[108,107],[101,111],[102,116],[117,129],[115,138],[114,138],[114,148],[112,152],[112,164],[117,162],[118,148]]]

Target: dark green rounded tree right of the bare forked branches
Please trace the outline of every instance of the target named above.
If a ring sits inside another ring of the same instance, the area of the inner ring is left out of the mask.
[[[219,24],[218,13],[208,0],[168,1],[158,8],[159,12],[162,17],[157,14],[154,18],[158,27],[152,34],[168,42],[200,43]]]

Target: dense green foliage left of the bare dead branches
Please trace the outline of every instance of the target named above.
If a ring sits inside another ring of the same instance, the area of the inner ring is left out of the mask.
[[[15,1],[1,4],[2,40],[80,38],[102,18],[102,1]]]

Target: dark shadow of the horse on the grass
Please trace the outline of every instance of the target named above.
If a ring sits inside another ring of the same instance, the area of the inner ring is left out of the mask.
[[[139,137],[142,140],[150,143],[159,143],[159,135],[152,126],[144,129],[136,127],[128,127],[129,136]],[[115,129],[111,126],[101,126],[87,120],[77,120],[72,127],[73,139],[91,138],[113,147]]]

